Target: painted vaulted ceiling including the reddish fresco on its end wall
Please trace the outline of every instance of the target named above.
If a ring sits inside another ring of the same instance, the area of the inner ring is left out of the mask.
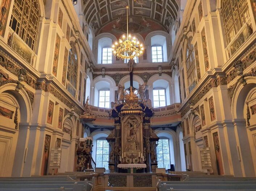
[[[131,32],[168,31],[179,10],[176,0],[83,0],[83,4],[87,23],[92,23],[96,35],[104,31],[123,34],[127,4]]]

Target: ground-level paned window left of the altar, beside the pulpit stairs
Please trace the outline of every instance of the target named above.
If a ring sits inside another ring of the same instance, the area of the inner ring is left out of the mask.
[[[97,140],[96,146],[96,167],[108,170],[109,144],[106,140]]]

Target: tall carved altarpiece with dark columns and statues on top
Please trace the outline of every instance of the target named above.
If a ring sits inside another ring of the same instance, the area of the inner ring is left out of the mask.
[[[138,98],[138,90],[120,87],[118,98],[109,110],[114,129],[106,138],[110,144],[110,172],[124,172],[118,164],[146,164],[141,172],[155,172],[157,167],[156,142],[159,137],[150,127],[153,116],[150,99]],[[138,171],[137,171],[138,172]]]

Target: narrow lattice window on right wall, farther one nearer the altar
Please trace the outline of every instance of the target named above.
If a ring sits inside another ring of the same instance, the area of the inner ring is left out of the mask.
[[[196,86],[195,54],[194,54],[194,48],[193,48],[193,45],[191,44],[191,41],[192,41],[192,37],[188,39],[188,43],[186,47],[186,70],[187,70],[189,93]]]

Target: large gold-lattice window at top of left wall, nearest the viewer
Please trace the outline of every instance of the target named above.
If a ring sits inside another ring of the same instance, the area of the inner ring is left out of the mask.
[[[37,41],[38,20],[37,0],[14,1],[10,27],[32,50]]]

